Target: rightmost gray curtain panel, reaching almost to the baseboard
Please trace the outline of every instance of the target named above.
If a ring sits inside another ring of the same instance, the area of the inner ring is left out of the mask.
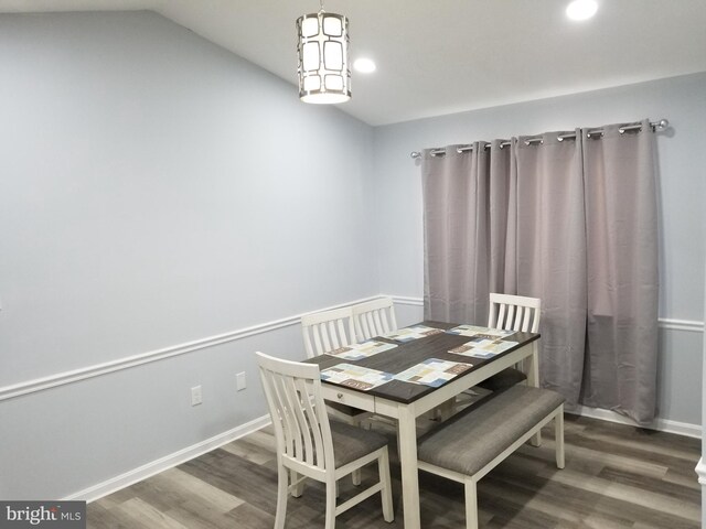
[[[582,134],[588,238],[588,341],[582,402],[654,418],[657,205],[650,123]]]

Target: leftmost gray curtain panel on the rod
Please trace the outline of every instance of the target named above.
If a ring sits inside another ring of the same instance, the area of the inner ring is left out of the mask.
[[[484,322],[489,293],[504,290],[511,153],[501,144],[422,154],[426,320]]]

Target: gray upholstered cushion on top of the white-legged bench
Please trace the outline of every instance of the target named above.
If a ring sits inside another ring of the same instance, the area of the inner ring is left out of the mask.
[[[421,436],[419,461],[472,476],[564,400],[548,389],[513,386]]]

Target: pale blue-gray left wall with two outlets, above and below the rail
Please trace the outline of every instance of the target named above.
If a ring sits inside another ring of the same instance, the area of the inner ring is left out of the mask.
[[[372,129],[154,13],[0,17],[0,392],[379,292]],[[0,400],[0,497],[266,414],[256,349],[303,356],[290,325]]]

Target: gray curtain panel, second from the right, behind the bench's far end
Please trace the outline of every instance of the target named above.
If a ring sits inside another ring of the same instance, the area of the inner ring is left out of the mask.
[[[516,149],[516,292],[542,300],[539,378],[571,408],[586,343],[586,213],[580,131],[549,132]]]

